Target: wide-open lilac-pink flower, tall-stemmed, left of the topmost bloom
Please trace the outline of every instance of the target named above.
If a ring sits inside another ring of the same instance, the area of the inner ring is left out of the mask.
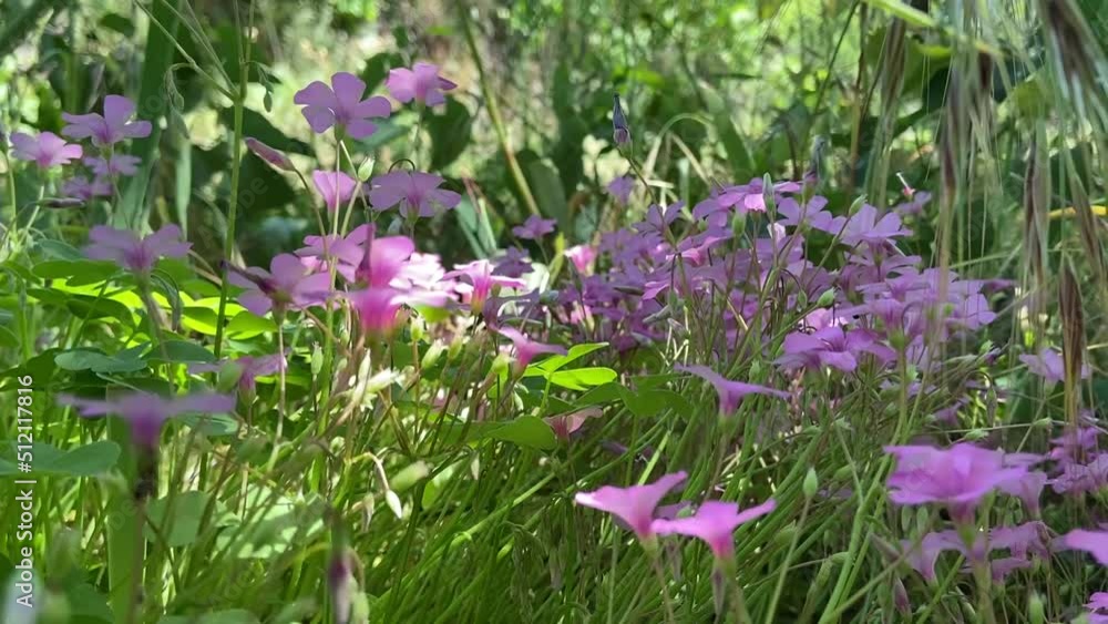
[[[339,72],[331,76],[331,86],[320,81],[296,92],[293,101],[302,104],[300,111],[316,134],[331,126],[345,127],[355,139],[366,139],[377,132],[377,124],[369,117],[387,117],[392,113],[389,101],[380,95],[362,100],[366,83],[352,73]]]

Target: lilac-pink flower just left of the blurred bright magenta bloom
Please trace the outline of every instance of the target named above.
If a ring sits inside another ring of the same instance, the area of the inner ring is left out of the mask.
[[[238,303],[250,313],[264,316],[270,309],[283,314],[289,308],[299,309],[322,304],[331,293],[331,276],[311,273],[293,254],[279,254],[269,263],[269,270],[260,267],[240,269],[229,266],[228,279],[246,288]]]

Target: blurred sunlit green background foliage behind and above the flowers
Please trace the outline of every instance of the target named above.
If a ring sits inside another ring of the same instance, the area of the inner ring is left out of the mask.
[[[245,134],[296,155],[305,171],[332,164],[334,146],[299,115],[298,89],[351,71],[382,93],[390,68],[425,60],[459,83],[449,104],[396,113],[359,149],[378,156],[366,176],[411,158],[463,193],[459,209],[420,224],[421,245],[445,262],[494,254],[527,216],[507,154],[537,209],[572,244],[640,214],[650,198],[691,206],[717,184],[799,178],[820,135],[831,146],[819,158],[819,191],[833,211],[859,194],[903,202],[903,180],[937,198],[907,217],[911,250],[929,259],[942,252],[978,275],[1027,278],[1028,236],[1042,235],[1038,286],[1067,249],[1080,250],[1078,273],[1096,296],[1105,291],[1096,211],[1108,135],[1100,4],[2,0],[0,122],[57,132],[62,111],[92,110],[105,93],[138,100],[162,132],[136,142],[133,151],[150,156],[148,182],[140,176],[124,194],[155,223],[181,223],[216,259],[233,111],[188,59],[213,75],[246,75]],[[245,74],[243,41],[252,45]],[[629,173],[611,139],[614,93],[653,188],[635,196],[630,215],[604,190]],[[1047,232],[1028,232],[1025,218],[1036,135],[1049,201],[1034,209]],[[237,244],[256,264],[297,245],[314,198],[253,155],[243,167]],[[17,184],[20,202],[37,188],[25,177]],[[1045,216],[1069,206],[1078,209]]]

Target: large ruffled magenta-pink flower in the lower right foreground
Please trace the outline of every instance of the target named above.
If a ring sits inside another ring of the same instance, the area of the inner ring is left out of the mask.
[[[896,504],[942,503],[957,522],[971,522],[982,497],[1027,474],[1026,463],[1012,466],[1001,451],[968,443],[950,449],[885,447],[896,457],[889,475],[889,500]]]

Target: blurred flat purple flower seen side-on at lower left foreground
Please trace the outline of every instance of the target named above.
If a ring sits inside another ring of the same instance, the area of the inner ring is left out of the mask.
[[[235,399],[224,395],[191,395],[163,399],[148,392],[135,392],[119,399],[100,401],[71,396],[59,397],[59,402],[78,408],[81,416],[114,413],[131,426],[131,440],[135,446],[154,449],[162,433],[162,424],[185,412],[223,413],[235,409]]]

